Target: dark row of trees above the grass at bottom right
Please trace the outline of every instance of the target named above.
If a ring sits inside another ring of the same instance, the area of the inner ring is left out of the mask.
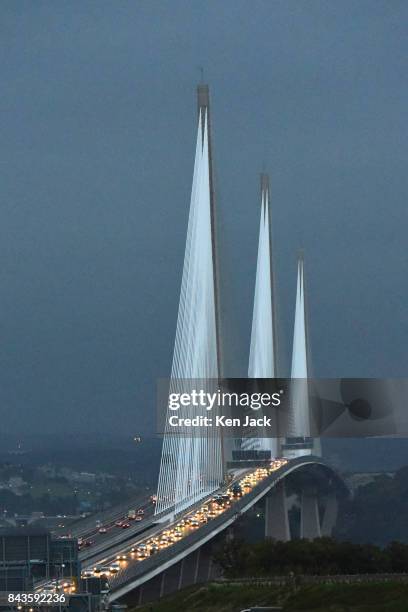
[[[230,578],[284,574],[333,575],[408,572],[408,545],[391,542],[385,548],[372,544],[338,542],[332,538],[248,544],[225,543],[214,560]]]

